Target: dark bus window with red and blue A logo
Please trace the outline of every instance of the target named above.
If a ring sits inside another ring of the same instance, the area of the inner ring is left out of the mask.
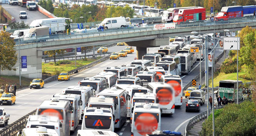
[[[90,129],[109,129],[112,121],[111,116],[86,115],[85,127]]]

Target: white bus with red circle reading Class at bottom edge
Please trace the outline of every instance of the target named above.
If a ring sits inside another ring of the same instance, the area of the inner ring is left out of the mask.
[[[156,103],[135,103],[131,136],[146,136],[161,129],[161,112]]]

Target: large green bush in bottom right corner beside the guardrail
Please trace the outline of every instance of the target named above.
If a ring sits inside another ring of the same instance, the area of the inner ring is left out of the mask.
[[[228,104],[221,110],[215,110],[216,136],[255,136],[256,108],[253,101],[241,104]],[[212,136],[212,115],[204,121],[200,136]]]

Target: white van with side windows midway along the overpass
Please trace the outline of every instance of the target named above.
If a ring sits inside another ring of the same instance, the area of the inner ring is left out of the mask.
[[[105,18],[99,26],[103,26],[104,29],[110,28],[120,28],[120,27],[128,27],[130,25],[129,17],[113,17],[113,18]]]

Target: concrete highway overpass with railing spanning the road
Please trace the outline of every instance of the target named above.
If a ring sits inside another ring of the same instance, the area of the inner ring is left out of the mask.
[[[16,50],[20,48],[20,56],[27,55],[28,71],[22,72],[22,76],[29,78],[42,77],[42,51],[80,46],[103,45],[108,43],[126,42],[129,46],[136,46],[137,58],[147,53],[147,47],[168,45],[170,36],[191,35],[190,32],[201,33],[223,32],[241,30],[243,27],[256,27],[255,17],[230,18],[226,21],[212,22],[197,21],[185,23],[166,23],[157,25],[146,25],[140,27],[129,27],[119,29],[99,30],[87,33],[69,33],[45,36],[37,36],[31,39],[21,39],[16,42]],[[162,26],[162,27],[161,27]],[[19,51],[17,51],[19,52]],[[18,54],[19,55],[19,54]],[[19,69],[19,61],[15,67]],[[19,75],[17,71],[3,71],[4,75]]]

